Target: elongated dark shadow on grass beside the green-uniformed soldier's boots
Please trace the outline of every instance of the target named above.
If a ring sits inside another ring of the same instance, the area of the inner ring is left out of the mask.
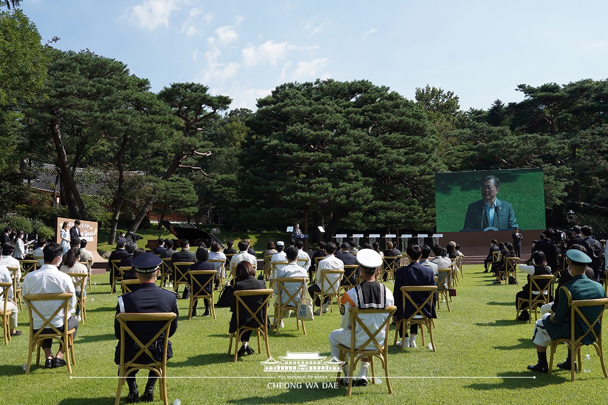
[[[522,366],[525,368],[525,366]],[[522,370],[521,372],[505,372],[500,373],[498,377],[511,377],[511,378],[492,378],[488,383],[473,383],[466,386],[474,390],[488,391],[488,390],[504,390],[504,389],[542,389],[547,390],[547,386],[562,384],[566,381],[570,381],[570,374],[568,378],[563,376],[556,376],[554,374],[547,375],[544,373],[534,373],[528,370]],[[513,378],[513,377],[522,377]]]

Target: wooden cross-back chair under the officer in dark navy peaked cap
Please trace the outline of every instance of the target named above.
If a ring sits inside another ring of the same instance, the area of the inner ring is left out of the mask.
[[[119,405],[120,402],[120,390],[122,389],[123,384],[125,384],[126,376],[130,375],[134,370],[149,370],[151,372],[156,373],[159,376],[159,390],[163,403],[168,405],[167,400],[167,346],[168,346],[168,336],[169,336],[169,328],[171,327],[171,322],[173,319],[177,318],[177,315],[173,312],[169,313],[119,313],[116,314],[116,319],[120,325],[120,365],[119,365],[119,379],[118,379],[118,389],[116,390],[116,400],[114,401],[114,405]],[[143,343],[135,333],[129,327],[131,322],[165,322],[156,335],[150,339],[150,341]],[[157,360],[156,357],[150,352],[150,345],[154,344],[157,339],[161,335],[165,335],[165,338],[162,339],[162,355],[161,359]],[[126,345],[126,336],[130,336],[131,339],[135,342],[139,351],[136,355],[133,356],[130,360],[125,359],[125,345]],[[137,361],[142,361],[140,356],[148,356],[150,358],[150,362],[147,363],[139,363]]]

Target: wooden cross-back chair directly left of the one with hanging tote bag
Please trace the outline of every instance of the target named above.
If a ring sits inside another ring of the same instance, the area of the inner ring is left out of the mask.
[[[238,355],[238,342],[241,341],[241,336],[246,330],[255,331],[255,335],[258,338],[258,353],[261,353],[260,345],[260,332],[263,335],[264,342],[266,342],[266,355],[270,357],[270,348],[268,346],[268,303],[272,297],[272,289],[265,288],[263,290],[238,290],[234,291],[235,299],[237,300],[237,332],[230,333],[230,341],[228,343],[228,355],[232,351],[232,339],[234,338],[234,362],[237,362]],[[246,302],[243,301],[243,297],[261,296],[263,302],[258,305],[257,308],[250,308]],[[239,319],[241,319],[241,313],[246,311],[247,318],[251,317],[251,321],[255,321],[257,325],[247,326],[241,325]]]

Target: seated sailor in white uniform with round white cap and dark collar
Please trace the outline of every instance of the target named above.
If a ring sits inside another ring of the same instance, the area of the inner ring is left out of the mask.
[[[371,249],[361,249],[357,253],[357,261],[361,270],[362,282],[344,293],[342,299],[340,299],[340,304],[342,304],[340,306],[342,322],[339,329],[330,333],[331,356],[336,359],[339,356],[339,344],[347,347],[351,345],[353,325],[350,324],[350,312],[348,311],[350,307],[384,309],[389,305],[395,305],[392,291],[376,281],[376,271],[382,265],[382,257],[380,257],[378,252]],[[360,298],[362,302],[359,302]],[[376,332],[386,321],[384,314],[361,314],[359,318],[361,318],[371,333]],[[359,348],[367,341],[368,335],[359,325],[355,325],[354,333],[354,342],[356,347]],[[385,344],[386,337],[384,331],[376,335],[380,344]],[[376,349],[376,347],[370,343],[367,349]],[[367,386],[367,370],[370,362],[364,360],[368,359],[361,360],[361,369],[359,369],[358,378],[353,381],[353,386]],[[342,366],[342,373],[345,376],[348,376],[348,371],[348,364]],[[340,379],[340,383],[348,385],[348,381],[345,378]]]

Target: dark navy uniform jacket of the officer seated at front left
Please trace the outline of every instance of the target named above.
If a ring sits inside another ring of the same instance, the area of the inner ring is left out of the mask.
[[[122,301],[123,308],[121,308],[120,302]],[[178,314],[178,301],[177,295],[172,293],[171,291],[163,290],[162,288],[157,287],[154,283],[144,283],[137,288],[137,290],[126,293],[119,297],[119,304],[116,305],[116,313],[125,312],[125,313],[153,313],[153,312],[174,312],[176,315]],[[132,325],[129,325],[133,333],[140,339],[143,343],[147,343],[151,338],[156,335],[159,330],[159,323],[162,322],[133,322]],[[171,327],[169,329],[169,337],[173,336],[175,331],[178,328],[178,318],[175,318],[173,322],[171,322]],[[114,320],[114,336],[119,339],[119,343],[116,345],[116,352],[114,353],[114,362],[116,364],[120,364],[120,324],[117,319]],[[159,341],[162,341],[165,338],[164,335],[161,335]],[[153,354],[161,355],[162,353],[162,345],[157,344],[159,349],[150,350]],[[137,354],[139,349],[136,349],[134,345],[133,339],[130,338],[129,335],[125,336],[125,360],[133,359],[133,356]],[[173,349],[171,348],[171,341],[168,342],[167,347],[167,359],[173,357]],[[143,354],[140,355],[139,362],[149,362],[150,358]],[[131,373],[131,376],[134,376],[137,372]],[[150,376],[155,376],[156,374],[150,372]]]

